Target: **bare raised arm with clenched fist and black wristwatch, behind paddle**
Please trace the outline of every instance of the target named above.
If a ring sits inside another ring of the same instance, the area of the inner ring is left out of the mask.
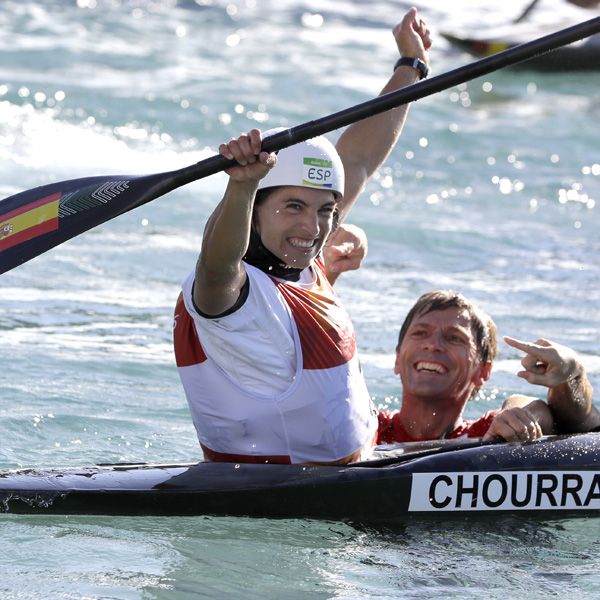
[[[418,58],[429,64],[429,29],[419,18],[416,8],[411,8],[406,13],[393,32],[401,56]],[[400,66],[381,90],[381,94],[411,85],[418,79],[419,72],[416,69]],[[354,123],[341,135],[336,149],[344,163],[346,179],[344,198],[338,204],[340,222],[345,219],[367,181],[392,151],[402,132],[407,113],[408,105],[405,104]]]

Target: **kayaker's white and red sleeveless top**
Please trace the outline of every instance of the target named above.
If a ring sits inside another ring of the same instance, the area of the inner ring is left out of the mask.
[[[309,283],[245,264],[234,313],[198,314],[194,274],[175,309],[179,375],[209,460],[333,462],[371,447],[377,430],[348,313],[322,265]]]

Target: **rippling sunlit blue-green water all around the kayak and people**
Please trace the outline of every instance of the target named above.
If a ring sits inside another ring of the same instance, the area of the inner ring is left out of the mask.
[[[435,30],[526,3],[423,2]],[[0,14],[0,195],[192,164],[250,127],[363,102],[396,60],[407,5],[16,1]],[[559,0],[538,18],[566,21]],[[439,36],[432,70],[472,60]],[[600,75],[505,70],[419,101],[351,215],[365,267],[338,289],[378,403],[398,406],[397,330],[421,293],[463,291],[501,334],[572,345],[600,385]],[[335,135],[331,136],[335,139]],[[223,175],[2,276],[0,466],[200,459],[174,366],[172,311]],[[506,393],[500,351],[476,416]],[[9,598],[597,597],[597,520],[418,522],[2,517]]]

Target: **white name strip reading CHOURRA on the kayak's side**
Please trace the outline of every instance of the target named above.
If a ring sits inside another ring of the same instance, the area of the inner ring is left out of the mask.
[[[600,510],[600,471],[413,473],[409,512]]]

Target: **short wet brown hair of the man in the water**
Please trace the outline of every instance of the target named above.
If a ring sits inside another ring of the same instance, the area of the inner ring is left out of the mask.
[[[477,344],[477,352],[482,363],[492,362],[496,358],[498,340],[496,336],[496,324],[492,318],[481,310],[474,302],[467,300],[462,294],[451,290],[435,290],[423,294],[410,309],[398,336],[397,349],[400,348],[406,332],[415,317],[426,315],[435,310],[446,310],[448,308],[459,308],[466,310],[471,319],[471,330]]]

